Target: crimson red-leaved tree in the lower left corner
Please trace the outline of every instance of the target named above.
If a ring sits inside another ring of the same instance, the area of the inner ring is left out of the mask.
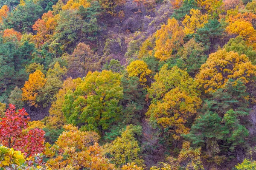
[[[44,131],[32,129],[26,133],[29,117],[25,109],[15,111],[14,105],[9,104],[6,115],[0,122],[0,142],[1,144],[21,150],[26,157],[34,153],[41,153],[44,150]]]

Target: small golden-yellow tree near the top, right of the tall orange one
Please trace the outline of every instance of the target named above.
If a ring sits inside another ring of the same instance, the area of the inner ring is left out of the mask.
[[[198,9],[191,9],[190,15],[186,15],[182,24],[185,34],[194,34],[197,28],[201,28],[207,23],[207,15],[202,14]]]

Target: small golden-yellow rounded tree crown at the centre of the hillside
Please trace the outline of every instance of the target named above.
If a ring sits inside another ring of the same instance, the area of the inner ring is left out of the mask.
[[[148,69],[148,65],[144,61],[136,60],[131,62],[127,66],[127,72],[129,77],[139,77],[140,84],[143,86],[150,83],[150,74],[152,71]]]

